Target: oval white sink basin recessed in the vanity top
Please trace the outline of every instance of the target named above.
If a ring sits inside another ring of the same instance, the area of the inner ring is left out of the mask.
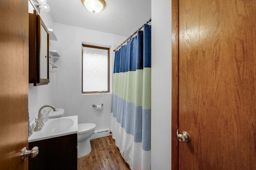
[[[49,123],[46,123],[46,125],[44,125],[44,127],[42,128],[42,133],[45,135],[54,135],[62,133],[68,130],[73,125],[74,121],[69,118],[54,119]]]

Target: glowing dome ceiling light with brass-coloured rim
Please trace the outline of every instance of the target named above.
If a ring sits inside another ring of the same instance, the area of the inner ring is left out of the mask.
[[[85,8],[93,14],[100,12],[105,7],[104,0],[82,0],[82,3]]]

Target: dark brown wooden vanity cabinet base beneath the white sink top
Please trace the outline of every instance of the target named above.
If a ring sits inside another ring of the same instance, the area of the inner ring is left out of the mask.
[[[28,143],[31,150],[39,148],[38,155],[29,158],[29,170],[77,170],[77,134]]]

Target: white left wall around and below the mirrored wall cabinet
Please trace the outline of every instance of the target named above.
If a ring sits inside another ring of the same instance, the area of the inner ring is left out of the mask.
[[[33,12],[33,7],[29,6],[29,12]],[[44,24],[48,28],[53,28],[54,22],[49,12],[40,12],[40,17],[42,18]],[[54,48],[54,42],[50,41],[50,49]],[[52,61],[53,59],[50,59]],[[38,117],[38,110],[44,105],[54,104],[54,70],[49,68],[49,78],[50,83],[43,86],[33,86],[29,84],[28,88],[28,111],[30,124],[35,122],[35,118]]]

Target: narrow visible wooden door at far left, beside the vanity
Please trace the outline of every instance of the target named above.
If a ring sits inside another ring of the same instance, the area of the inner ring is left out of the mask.
[[[0,169],[26,170],[28,147],[28,0],[0,1]]]

